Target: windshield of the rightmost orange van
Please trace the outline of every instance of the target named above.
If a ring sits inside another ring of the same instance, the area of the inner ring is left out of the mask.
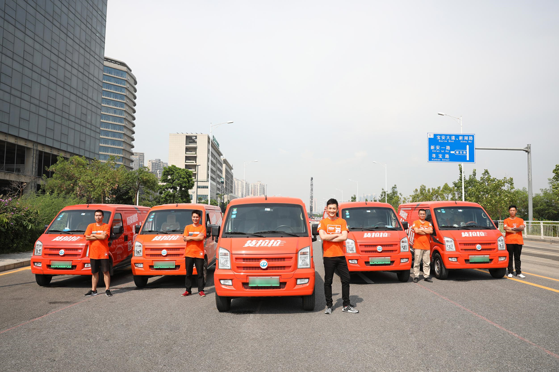
[[[495,230],[495,225],[480,207],[452,206],[433,210],[440,230]]]

